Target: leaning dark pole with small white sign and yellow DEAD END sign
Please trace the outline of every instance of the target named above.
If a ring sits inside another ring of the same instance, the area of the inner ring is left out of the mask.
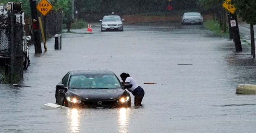
[[[237,15],[235,13],[236,7],[231,4],[231,0],[225,0],[225,2],[222,5],[228,12],[230,12],[230,14],[228,15],[229,16],[229,34],[230,35],[232,34],[233,36],[236,52],[242,52],[243,50],[242,50],[242,45],[240,40]]]

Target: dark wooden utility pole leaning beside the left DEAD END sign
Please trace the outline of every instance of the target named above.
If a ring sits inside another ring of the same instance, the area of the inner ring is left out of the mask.
[[[30,2],[30,9],[31,9],[31,17],[32,17],[32,29],[33,29],[35,54],[40,54],[42,53],[42,47],[41,47],[40,34],[39,34],[37,3],[36,3],[36,0],[29,0],[29,2]]]

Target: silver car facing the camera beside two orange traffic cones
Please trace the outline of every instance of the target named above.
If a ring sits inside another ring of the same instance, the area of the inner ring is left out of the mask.
[[[123,21],[119,15],[104,16],[101,21],[101,31],[124,31]]]

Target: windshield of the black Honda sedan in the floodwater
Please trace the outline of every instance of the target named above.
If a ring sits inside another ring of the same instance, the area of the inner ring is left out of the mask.
[[[72,75],[69,87],[73,89],[111,89],[121,86],[115,75]]]

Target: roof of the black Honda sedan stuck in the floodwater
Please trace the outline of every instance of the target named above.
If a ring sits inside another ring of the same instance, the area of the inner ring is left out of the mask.
[[[69,72],[71,75],[80,75],[80,74],[106,74],[106,75],[115,75],[114,72],[109,70],[74,70]]]

